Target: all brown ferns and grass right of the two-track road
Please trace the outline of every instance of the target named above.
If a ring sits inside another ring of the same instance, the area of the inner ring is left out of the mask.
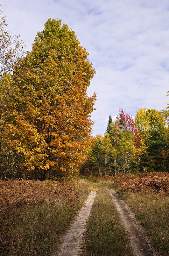
[[[168,256],[169,173],[119,174],[95,178],[95,181],[114,189],[125,200],[158,252]]]

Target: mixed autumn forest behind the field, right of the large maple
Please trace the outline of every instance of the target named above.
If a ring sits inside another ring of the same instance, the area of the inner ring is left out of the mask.
[[[125,127],[122,132],[119,130],[120,125]],[[168,125],[168,104],[164,111],[140,108],[135,120],[120,108],[114,122],[109,116],[104,136],[96,135],[92,138],[92,146],[87,161],[81,166],[81,174],[168,172]]]

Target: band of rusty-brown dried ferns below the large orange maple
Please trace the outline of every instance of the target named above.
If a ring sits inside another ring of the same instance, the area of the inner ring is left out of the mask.
[[[75,183],[60,181],[33,181],[27,180],[26,188],[23,180],[14,180],[11,188],[11,180],[0,182],[0,202],[3,206],[34,205],[45,202],[46,196],[53,199],[64,197],[74,203],[77,197]],[[67,198],[67,196],[69,196]]]

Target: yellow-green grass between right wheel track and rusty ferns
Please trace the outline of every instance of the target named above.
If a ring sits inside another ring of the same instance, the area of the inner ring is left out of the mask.
[[[124,193],[126,203],[147,230],[157,250],[164,256],[169,252],[169,196],[159,193]]]

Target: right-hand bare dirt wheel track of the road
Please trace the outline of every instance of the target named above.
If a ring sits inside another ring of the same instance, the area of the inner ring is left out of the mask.
[[[116,204],[121,220],[128,232],[133,253],[137,256],[160,255],[151,246],[149,239],[145,235],[144,229],[141,227],[134,217],[134,214],[126,206],[124,201],[115,193],[114,190],[109,189],[109,191]]]

